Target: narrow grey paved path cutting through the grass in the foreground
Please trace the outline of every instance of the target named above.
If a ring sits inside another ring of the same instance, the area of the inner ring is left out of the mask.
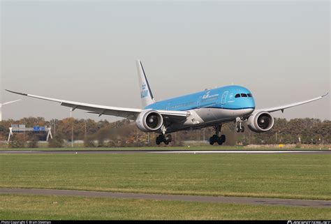
[[[29,195],[66,195],[82,197],[112,197],[143,200],[166,200],[185,202],[216,202],[230,204],[268,204],[285,206],[304,207],[328,207],[331,208],[331,201],[323,200],[293,200],[277,198],[254,198],[254,197],[216,197],[216,196],[195,196],[195,195],[155,195],[142,193],[110,193],[100,191],[70,191],[51,189],[22,189],[22,188],[0,188],[0,194],[29,194]]]

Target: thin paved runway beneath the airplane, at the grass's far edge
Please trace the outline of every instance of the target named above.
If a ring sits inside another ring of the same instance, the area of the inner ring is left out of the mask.
[[[331,154],[331,150],[8,150],[0,154]]]

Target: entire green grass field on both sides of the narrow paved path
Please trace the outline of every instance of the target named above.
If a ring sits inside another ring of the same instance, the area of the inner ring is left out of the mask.
[[[330,154],[0,154],[0,188],[330,200]],[[328,220],[330,208],[0,195],[0,219]]]

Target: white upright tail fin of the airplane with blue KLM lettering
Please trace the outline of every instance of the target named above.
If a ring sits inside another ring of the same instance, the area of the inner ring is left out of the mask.
[[[148,80],[145,74],[144,68],[142,68],[142,64],[140,60],[135,61],[138,69],[138,80],[139,80],[139,88],[140,88],[140,98],[142,107],[146,107],[152,103],[155,103],[154,97],[149,87]]]

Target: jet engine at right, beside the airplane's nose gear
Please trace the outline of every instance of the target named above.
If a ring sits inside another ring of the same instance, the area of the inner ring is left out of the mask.
[[[274,126],[274,117],[272,117],[269,112],[261,111],[257,114],[251,114],[247,125],[253,132],[266,132]]]

